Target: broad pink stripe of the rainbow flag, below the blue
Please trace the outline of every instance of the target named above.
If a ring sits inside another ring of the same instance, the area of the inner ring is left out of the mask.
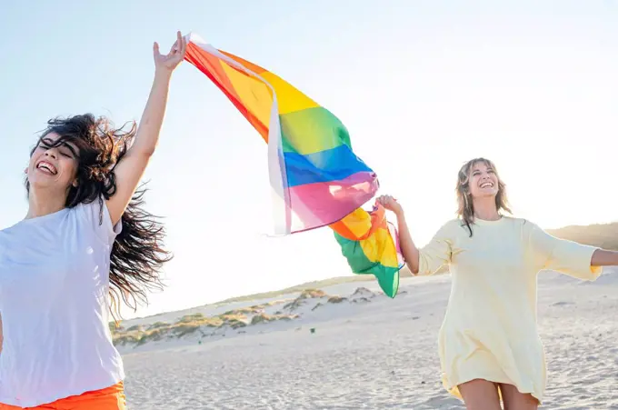
[[[373,198],[377,189],[377,175],[373,172],[359,172],[339,181],[289,188],[290,206],[303,222],[302,226],[293,226],[293,232],[339,221]]]

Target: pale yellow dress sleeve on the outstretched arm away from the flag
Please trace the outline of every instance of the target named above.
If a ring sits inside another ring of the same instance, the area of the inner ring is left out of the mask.
[[[560,239],[530,225],[530,246],[534,265],[539,270],[548,269],[582,280],[592,281],[603,272],[603,267],[592,266],[593,253],[598,248]]]

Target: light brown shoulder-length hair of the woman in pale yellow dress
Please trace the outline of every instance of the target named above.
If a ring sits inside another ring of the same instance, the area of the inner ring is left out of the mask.
[[[495,195],[495,207],[498,213],[506,211],[509,214],[513,214],[511,211],[508,199],[506,197],[506,185],[498,175],[498,171],[492,161],[486,158],[474,158],[465,163],[459,170],[457,175],[457,186],[455,192],[457,194],[457,215],[462,219],[463,224],[472,233],[472,224],[474,222],[474,205],[472,201],[472,194],[470,194],[470,176],[472,174],[472,168],[478,163],[483,163],[487,168],[493,170],[496,178],[498,179],[498,194]]]

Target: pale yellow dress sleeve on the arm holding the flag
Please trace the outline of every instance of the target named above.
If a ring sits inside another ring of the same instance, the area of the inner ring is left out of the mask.
[[[418,250],[418,275],[434,275],[444,265],[451,262],[453,256],[454,224],[444,224],[427,245]]]

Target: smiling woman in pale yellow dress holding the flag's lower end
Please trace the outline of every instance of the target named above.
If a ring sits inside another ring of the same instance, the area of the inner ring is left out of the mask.
[[[444,387],[470,410],[536,409],[546,365],[536,327],[536,274],[551,269],[594,280],[618,253],[558,239],[507,216],[503,181],[493,163],[475,158],[461,168],[458,217],[417,248],[404,209],[391,195],[378,202],[397,217],[406,264],[414,275],[449,265],[453,275],[438,338]]]

